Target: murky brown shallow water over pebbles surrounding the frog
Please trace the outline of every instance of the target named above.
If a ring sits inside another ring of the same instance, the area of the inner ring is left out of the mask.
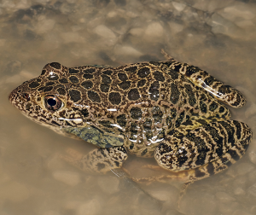
[[[44,65],[119,66],[177,61],[207,70],[247,97],[232,119],[256,129],[256,3],[234,0],[21,0],[0,2],[0,214],[179,214],[176,183],[125,183],[113,172],[81,172],[60,159],[93,146],[22,116],[9,92]],[[131,157],[127,168],[154,160]],[[141,171],[135,168],[135,171]],[[141,172],[140,172],[141,173]],[[189,186],[183,214],[255,214],[256,142],[228,171]]]

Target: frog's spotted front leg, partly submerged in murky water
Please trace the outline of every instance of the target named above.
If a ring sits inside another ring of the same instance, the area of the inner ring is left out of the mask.
[[[122,146],[113,148],[96,148],[89,154],[80,154],[69,148],[67,155],[61,154],[61,159],[66,160],[82,171],[106,173],[111,169],[120,168],[127,159],[126,149]]]

